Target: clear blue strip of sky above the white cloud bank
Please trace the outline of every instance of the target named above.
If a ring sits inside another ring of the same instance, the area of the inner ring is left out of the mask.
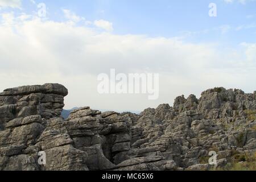
[[[256,1],[228,2],[224,0],[183,1],[34,1],[45,3],[47,18],[63,21],[62,9],[68,9],[86,20],[106,19],[113,23],[115,34],[146,34],[149,36],[187,36],[192,42],[218,42],[224,44],[255,42]],[[209,3],[216,3],[217,17],[209,17]],[[17,13],[35,12],[30,0],[22,2]],[[6,9],[3,11],[10,11]],[[221,34],[220,28],[228,28]],[[242,29],[240,29],[242,27]]]

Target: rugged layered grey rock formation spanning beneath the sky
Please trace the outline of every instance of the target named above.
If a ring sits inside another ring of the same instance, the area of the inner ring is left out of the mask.
[[[64,120],[67,94],[59,84],[0,93],[0,170],[256,170],[256,92],[214,88],[139,115],[82,107]]]

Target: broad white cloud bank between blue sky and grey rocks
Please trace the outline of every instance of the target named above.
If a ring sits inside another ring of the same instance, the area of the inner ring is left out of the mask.
[[[230,50],[175,37],[99,32],[69,20],[1,16],[0,90],[59,82],[69,89],[66,108],[143,110],[172,104],[180,94],[199,97],[214,86],[255,89],[255,44]],[[98,94],[97,76],[109,74],[111,68],[118,73],[159,73],[159,100],[148,101],[142,94]]]

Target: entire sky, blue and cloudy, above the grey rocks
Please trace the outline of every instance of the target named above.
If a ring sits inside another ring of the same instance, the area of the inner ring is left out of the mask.
[[[0,42],[0,90],[58,82],[65,109],[142,111],[216,86],[256,90],[255,0],[0,0]],[[159,98],[98,93],[112,68],[158,73]]]

